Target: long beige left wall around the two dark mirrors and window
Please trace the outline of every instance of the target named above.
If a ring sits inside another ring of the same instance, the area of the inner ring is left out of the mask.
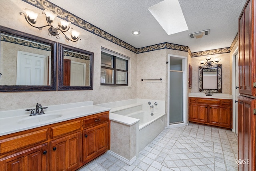
[[[75,103],[80,101],[94,101],[94,104],[106,103],[111,101],[118,101],[124,99],[136,98],[136,54],[125,48],[122,48],[108,40],[100,38],[90,32],[87,32],[74,25],[72,27],[81,33],[82,40],[78,42],[68,42],[64,36],[60,34],[60,39],[50,37],[48,35],[48,29],[43,28],[39,31],[37,28],[33,28],[25,21],[24,16],[19,12],[23,12],[24,8],[29,8],[34,11],[40,12],[39,8],[31,6],[30,4],[21,0],[8,0],[2,1],[0,6],[0,25],[21,32],[34,34],[42,38],[50,39],[62,44],[74,46],[76,48],[84,49],[90,52],[94,52],[94,80],[93,90],[80,90],[80,91],[38,91],[38,92],[10,92],[0,93],[0,111],[22,109],[33,107],[36,102],[39,102],[43,106]],[[40,12],[41,13],[41,12]],[[40,23],[38,23],[40,25]],[[101,46],[125,56],[130,57],[129,64],[129,86],[128,87],[108,87],[100,86],[100,50]]]

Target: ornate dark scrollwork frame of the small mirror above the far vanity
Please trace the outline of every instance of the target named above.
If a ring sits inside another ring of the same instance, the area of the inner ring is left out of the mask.
[[[203,69],[206,68],[217,68],[217,80],[216,80],[216,84],[217,84],[217,89],[203,89]],[[221,64],[217,64],[217,65],[210,65],[210,66],[199,66],[198,67],[198,73],[199,73],[199,92],[210,92],[210,93],[221,93],[222,89],[222,78],[221,78]]]

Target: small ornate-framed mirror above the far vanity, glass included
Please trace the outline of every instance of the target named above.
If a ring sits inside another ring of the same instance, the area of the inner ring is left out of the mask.
[[[199,92],[221,93],[221,64],[199,66]]]

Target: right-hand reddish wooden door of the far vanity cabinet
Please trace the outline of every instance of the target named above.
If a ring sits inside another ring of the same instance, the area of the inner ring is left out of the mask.
[[[209,105],[208,122],[211,125],[232,128],[232,108],[230,106]]]

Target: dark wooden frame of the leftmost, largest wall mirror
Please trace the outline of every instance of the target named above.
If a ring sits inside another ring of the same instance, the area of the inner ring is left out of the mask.
[[[0,33],[9,34],[22,39],[31,40],[40,44],[47,44],[51,46],[52,60],[51,60],[51,85],[0,85],[1,92],[12,92],[12,91],[56,91],[56,59],[57,59],[57,43],[48,39],[40,38],[28,33],[20,32],[0,26]],[[1,44],[0,44],[1,46]],[[1,78],[0,78],[1,79]]]

